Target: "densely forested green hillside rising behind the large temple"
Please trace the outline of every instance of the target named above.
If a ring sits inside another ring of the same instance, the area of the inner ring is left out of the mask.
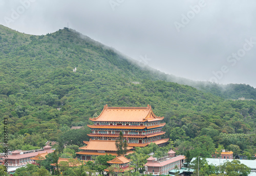
[[[90,123],[105,104],[150,104],[165,116],[166,137],[176,146],[206,135],[216,147],[232,144],[256,152],[255,101],[227,100],[228,95],[210,93],[211,87],[203,92],[169,79],[71,29],[33,36],[0,26],[0,117],[8,118],[12,149],[41,147],[59,136],[81,145],[89,129],[78,134],[70,127]],[[246,135],[224,140],[232,134]],[[2,131],[0,137],[3,142]]]

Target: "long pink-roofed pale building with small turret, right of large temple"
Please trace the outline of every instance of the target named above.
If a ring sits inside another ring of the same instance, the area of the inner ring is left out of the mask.
[[[170,170],[175,168],[181,169],[185,161],[185,156],[176,156],[172,149],[167,154],[167,156],[159,159],[152,156],[148,158],[145,164],[146,171],[144,171],[144,174],[168,175]]]

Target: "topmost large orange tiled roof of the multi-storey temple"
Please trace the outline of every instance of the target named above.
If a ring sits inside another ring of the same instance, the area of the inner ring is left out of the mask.
[[[100,115],[92,121],[144,122],[162,120],[156,116],[150,105],[147,107],[108,107],[105,105]]]

